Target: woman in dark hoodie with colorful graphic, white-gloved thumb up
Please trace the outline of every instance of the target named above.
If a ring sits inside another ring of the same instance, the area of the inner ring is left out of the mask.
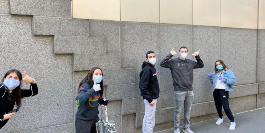
[[[75,129],[77,133],[96,133],[98,105],[103,95],[103,73],[100,68],[90,69],[80,82],[75,102],[79,105],[76,112]]]

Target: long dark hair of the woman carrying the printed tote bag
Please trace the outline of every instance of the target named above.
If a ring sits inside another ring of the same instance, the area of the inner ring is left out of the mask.
[[[93,85],[94,85],[94,81],[92,80],[92,77],[93,77],[93,73],[94,73],[94,71],[96,70],[96,69],[99,69],[99,70],[101,70],[100,68],[98,68],[98,67],[94,67],[94,68],[92,68],[92,69],[90,69],[90,71],[88,72],[88,74],[87,74],[87,76],[80,82],[80,84],[79,84],[79,88],[80,88],[80,86],[83,84],[83,83],[85,83],[85,82],[87,82],[88,83],[88,85],[92,88],[93,87]],[[103,72],[102,72],[102,70],[101,70],[101,73],[102,73],[102,76],[103,76]],[[100,93],[100,99],[102,99],[102,97],[103,97],[103,80],[99,83],[100,84],[100,88],[101,88],[101,90],[99,91],[99,93]]]

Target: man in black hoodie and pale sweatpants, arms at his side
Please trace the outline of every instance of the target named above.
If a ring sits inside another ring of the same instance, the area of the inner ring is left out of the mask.
[[[153,133],[155,127],[155,107],[159,96],[159,85],[155,70],[155,53],[148,51],[140,73],[139,88],[145,103],[143,133]]]

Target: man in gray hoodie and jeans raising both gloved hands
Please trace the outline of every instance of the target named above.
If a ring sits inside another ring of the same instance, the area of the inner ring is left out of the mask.
[[[200,50],[199,50],[200,51]],[[193,133],[190,127],[190,114],[191,105],[193,100],[193,69],[203,68],[203,61],[199,56],[199,51],[195,52],[194,55],[197,62],[186,59],[188,55],[188,48],[181,47],[179,49],[179,58],[171,59],[176,55],[174,48],[171,50],[160,63],[160,66],[164,68],[170,68],[171,75],[173,78],[174,96],[175,96],[175,110],[174,110],[174,133],[180,133],[180,114],[184,104],[184,133]]]

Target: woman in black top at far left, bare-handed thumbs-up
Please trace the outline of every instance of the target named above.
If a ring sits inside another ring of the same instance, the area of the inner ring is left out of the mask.
[[[9,70],[3,78],[3,84],[0,84],[0,129],[7,123],[15,113],[8,113],[13,110],[15,104],[17,108],[21,107],[21,98],[31,97],[38,94],[38,87],[35,80],[27,75],[23,81],[30,83],[29,90],[21,89],[22,74],[19,70]]]

